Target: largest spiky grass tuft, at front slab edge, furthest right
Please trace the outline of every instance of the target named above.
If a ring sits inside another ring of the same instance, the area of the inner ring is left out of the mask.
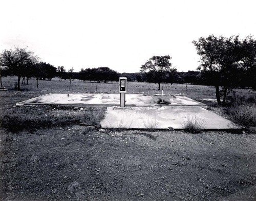
[[[205,120],[198,116],[187,116],[182,123],[182,129],[190,133],[201,133],[205,129]]]

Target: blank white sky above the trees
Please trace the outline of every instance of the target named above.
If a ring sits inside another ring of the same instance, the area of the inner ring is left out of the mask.
[[[196,70],[192,41],[255,35],[255,6],[253,0],[0,0],[0,52],[27,47],[41,61],[77,72],[101,66],[138,72],[164,55],[178,71]]]

